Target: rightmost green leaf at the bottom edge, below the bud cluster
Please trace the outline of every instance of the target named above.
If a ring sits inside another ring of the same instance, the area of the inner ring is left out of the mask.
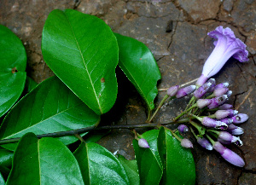
[[[195,162],[189,148],[182,147],[170,130],[160,128],[158,150],[164,164],[161,184],[195,184]]]

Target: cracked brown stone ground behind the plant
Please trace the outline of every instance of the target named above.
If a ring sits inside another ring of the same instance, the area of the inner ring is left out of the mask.
[[[233,95],[230,103],[250,118],[241,127],[242,147],[230,147],[246,161],[244,168],[236,168],[221,159],[216,152],[207,152],[195,144],[198,184],[256,184],[255,148],[255,61],[256,61],[256,2],[253,0],[0,0],[0,24],[9,27],[22,40],[28,56],[27,74],[36,82],[54,75],[41,53],[44,21],[53,9],[77,9],[105,20],[113,29],[145,43],[160,66],[162,79],[156,99],[158,104],[166,89],[174,84],[189,82],[201,75],[212,39],[207,32],[216,26],[229,26],[247,44],[249,59],[240,63],[230,59],[215,76],[218,83],[229,82]],[[117,69],[118,100],[102,124],[140,124],[146,119],[145,104],[137,91]],[[188,101],[188,99],[185,99]],[[185,106],[183,101],[165,105],[154,119],[172,119]],[[113,118],[113,115],[114,118]],[[143,133],[144,130],[138,130]],[[189,135],[190,136],[190,135]],[[99,142],[111,152],[134,158],[129,130],[113,130]],[[195,139],[190,138],[192,141]]]

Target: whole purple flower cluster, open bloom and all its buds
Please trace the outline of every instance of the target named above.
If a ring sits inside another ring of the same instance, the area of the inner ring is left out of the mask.
[[[226,103],[232,95],[232,91],[228,88],[229,83],[216,84],[215,79],[211,77],[224,66],[231,56],[241,62],[248,61],[248,52],[246,45],[235,37],[230,28],[224,29],[222,26],[218,26],[216,30],[209,32],[208,35],[217,40],[214,42],[215,49],[213,49],[203,67],[201,77],[195,85],[189,85],[181,89],[178,85],[172,86],[167,90],[164,101],[168,96],[172,100],[193,93],[189,105],[183,113],[173,119],[173,122],[177,123],[177,120],[181,117],[187,117],[187,124],[190,127],[180,124],[177,131],[183,134],[191,130],[201,147],[207,150],[215,149],[230,164],[243,167],[245,165],[243,159],[223,145],[234,143],[237,146],[242,146],[239,136],[244,131],[237,124],[246,122],[248,116],[245,113],[238,113],[238,111],[233,110],[231,104]],[[193,143],[188,139],[182,139],[174,132],[172,132],[172,136],[175,136],[183,147],[193,147]],[[146,141],[142,142],[141,147],[148,147],[144,143]]]

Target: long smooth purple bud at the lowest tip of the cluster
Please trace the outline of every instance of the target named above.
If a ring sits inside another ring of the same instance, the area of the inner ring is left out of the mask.
[[[220,142],[215,142],[213,148],[232,165],[243,167],[245,165],[243,159],[229,148],[224,147]]]

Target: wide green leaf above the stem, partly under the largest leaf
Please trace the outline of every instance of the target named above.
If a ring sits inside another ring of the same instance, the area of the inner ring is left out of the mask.
[[[87,107],[57,77],[46,79],[23,97],[3,120],[0,138],[76,130],[98,124],[100,116]],[[59,138],[64,144],[78,141],[75,136]],[[15,144],[3,145],[14,150]]]

